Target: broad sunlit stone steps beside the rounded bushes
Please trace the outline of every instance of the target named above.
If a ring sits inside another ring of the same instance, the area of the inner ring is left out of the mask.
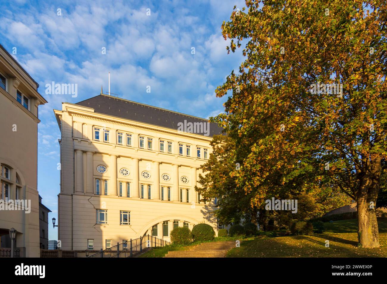
[[[235,248],[235,241],[201,243],[189,250],[168,252],[165,257],[226,257],[227,251],[231,248]]]

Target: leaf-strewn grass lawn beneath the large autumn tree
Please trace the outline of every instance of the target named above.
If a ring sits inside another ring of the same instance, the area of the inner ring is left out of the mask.
[[[323,234],[242,241],[227,257],[387,257],[387,219],[378,218],[378,226],[380,248],[356,247],[357,219],[351,219],[324,223]]]

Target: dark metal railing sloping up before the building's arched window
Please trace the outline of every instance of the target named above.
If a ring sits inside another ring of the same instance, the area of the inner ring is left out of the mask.
[[[165,247],[170,244],[169,241],[146,235],[134,240],[130,239],[125,243],[117,243],[114,247],[106,248],[106,250],[101,248],[100,252],[89,257],[133,257],[146,248]]]

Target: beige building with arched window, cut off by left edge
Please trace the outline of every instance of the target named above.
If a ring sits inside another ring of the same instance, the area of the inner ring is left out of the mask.
[[[17,230],[14,255],[39,257],[39,85],[0,44],[0,257],[10,254],[9,230]],[[31,202],[12,209],[15,200]]]

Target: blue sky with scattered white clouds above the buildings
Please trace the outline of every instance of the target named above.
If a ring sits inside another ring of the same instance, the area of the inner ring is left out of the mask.
[[[173,111],[210,117],[226,98],[214,90],[241,53],[227,54],[221,24],[240,0],[27,1],[2,3],[0,43],[39,83],[48,104],[39,106],[38,190],[57,217],[60,131],[53,109],[98,95],[103,85],[119,97]],[[61,16],[57,15],[61,9]],[[150,9],[151,15],[147,15]],[[102,48],[106,54],[102,54]],[[192,47],[195,54],[191,53]],[[78,85],[78,96],[50,95],[45,85]],[[146,87],[151,86],[151,93]],[[57,240],[50,223],[49,239]]]

